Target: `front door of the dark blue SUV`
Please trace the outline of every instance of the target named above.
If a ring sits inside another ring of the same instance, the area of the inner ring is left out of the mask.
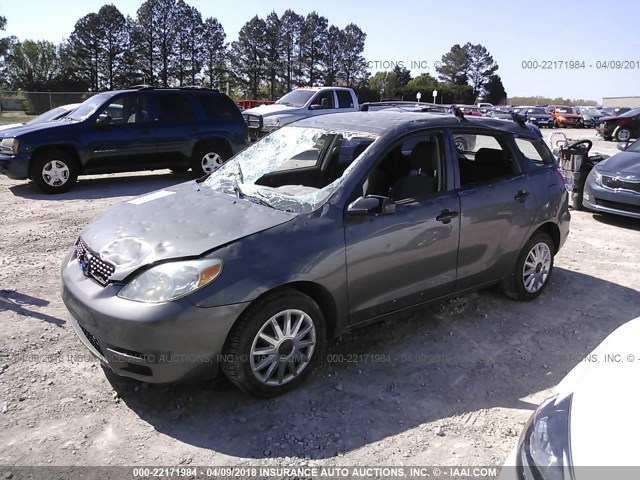
[[[85,172],[134,171],[154,162],[155,135],[146,93],[112,97],[91,122]]]

